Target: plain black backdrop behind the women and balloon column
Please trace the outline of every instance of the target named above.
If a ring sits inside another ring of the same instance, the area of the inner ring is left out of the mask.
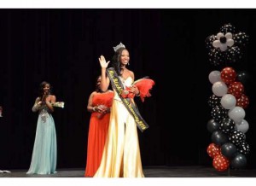
[[[130,51],[136,78],[148,75],[156,83],[150,98],[137,100],[150,126],[138,131],[143,166],[211,166],[208,74],[221,69],[209,63],[204,41],[225,23],[250,37],[236,70],[250,74],[247,167],[256,168],[255,9],[0,9],[0,168],[30,165],[38,119],[32,105],[43,80],[65,102],[53,113],[57,168],[85,167],[86,106],[100,73],[98,57],[110,59],[119,42]]]

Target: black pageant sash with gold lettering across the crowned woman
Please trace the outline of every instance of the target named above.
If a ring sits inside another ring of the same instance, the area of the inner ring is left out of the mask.
[[[107,74],[108,74],[108,78],[110,79],[113,89],[116,90],[116,92],[119,94],[119,97],[121,98],[122,102],[124,103],[125,108],[127,108],[127,110],[133,116],[139,130],[143,132],[146,129],[148,129],[148,127],[149,127],[148,124],[146,123],[146,121],[143,119],[143,117],[139,113],[136,105],[133,102],[131,102],[131,98],[124,98],[124,97],[120,96],[124,90],[124,86],[123,86],[121,80],[119,79],[117,73],[113,69],[113,67],[109,67],[107,69]]]

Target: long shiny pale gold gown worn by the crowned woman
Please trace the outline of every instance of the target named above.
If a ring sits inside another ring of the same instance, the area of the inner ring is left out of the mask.
[[[131,86],[132,78],[123,81]],[[102,161],[94,177],[144,177],[137,125],[114,90]]]

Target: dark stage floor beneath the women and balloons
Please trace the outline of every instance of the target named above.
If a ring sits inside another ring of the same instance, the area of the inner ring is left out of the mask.
[[[84,177],[84,169],[57,169],[50,175],[27,175],[27,170],[8,170],[0,177]],[[205,166],[148,166],[143,167],[145,177],[256,177],[256,170],[241,169],[217,171]],[[89,177],[88,177],[89,178]]]

